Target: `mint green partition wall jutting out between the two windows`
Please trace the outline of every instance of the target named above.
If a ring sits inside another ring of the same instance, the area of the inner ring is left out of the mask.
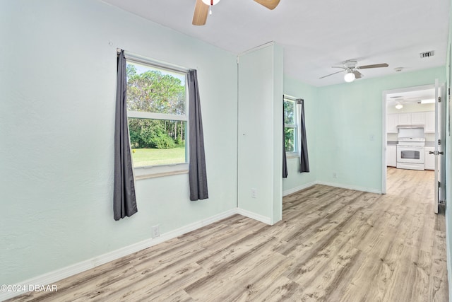
[[[269,223],[281,219],[283,202],[282,95],[279,45],[239,56],[238,207]],[[256,189],[256,198],[251,189]]]

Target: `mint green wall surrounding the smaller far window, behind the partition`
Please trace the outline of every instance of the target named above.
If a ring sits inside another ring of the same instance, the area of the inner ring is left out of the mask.
[[[306,136],[308,143],[309,173],[299,173],[299,158],[287,158],[287,178],[283,178],[283,192],[292,192],[304,185],[312,184],[317,179],[317,130],[316,101],[317,90],[314,86],[301,83],[289,76],[284,77],[284,93],[295,98],[304,99],[306,115]]]

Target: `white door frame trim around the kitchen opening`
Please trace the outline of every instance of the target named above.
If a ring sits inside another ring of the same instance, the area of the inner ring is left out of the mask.
[[[441,90],[441,97],[444,96],[445,93],[445,83],[439,83],[439,88]],[[386,163],[386,152],[387,152],[387,145],[388,145],[388,136],[386,133],[386,122],[387,122],[387,115],[388,115],[388,104],[386,102],[386,98],[388,94],[393,93],[404,93],[404,92],[412,92],[412,91],[421,91],[426,89],[435,89],[435,83],[429,84],[429,85],[422,85],[422,86],[412,86],[412,87],[405,87],[405,88],[397,88],[397,89],[390,89],[383,91],[382,93],[382,123],[381,123],[381,194],[386,194],[386,170],[387,170],[387,163]],[[446,129],[444,129],[445,131]],[[436,193],[435,193],[436,194]]]

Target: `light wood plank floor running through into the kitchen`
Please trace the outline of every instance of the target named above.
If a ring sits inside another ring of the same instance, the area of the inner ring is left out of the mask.
[[[432,171],[388,194],[315,185],[274,226],[235,215],[11,301],[448,301]]]

